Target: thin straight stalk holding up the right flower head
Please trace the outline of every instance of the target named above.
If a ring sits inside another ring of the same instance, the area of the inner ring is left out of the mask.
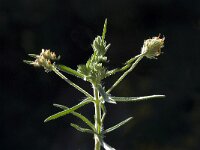
[[[137,58],[137,60],[132,64],[132,66],[122,74],[122,76],[112,85],[110,89],[106,93],[110,93],[135,67],[136,65],[142,60],[144,55],[140,55],[140,57]]]

